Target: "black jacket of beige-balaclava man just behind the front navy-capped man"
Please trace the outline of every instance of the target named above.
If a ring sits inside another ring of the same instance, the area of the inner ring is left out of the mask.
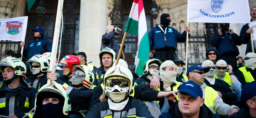
[[[163,81],[160,81],[160,91],[164,91],[163,88]],[[171,89],[172,87],[176,85],[175,83],[171,85]],[[178,87],[178,90],[180,89],[180,86]],[[160,91],[156,91],[150,88],[150,85],[146,85],[141,89],[141,100],[144,101],[159,101],[159,106],[160,109],[163,107],[164,105],[164,98],[160,98],[160,99],[156,99],[158,92]],[[172,90],[173,91],[173,90]],[[176,100],[176,98],[175,98]],[[171,100],[168,100],[170,106],[172,106],[172,104],[174,103]]]

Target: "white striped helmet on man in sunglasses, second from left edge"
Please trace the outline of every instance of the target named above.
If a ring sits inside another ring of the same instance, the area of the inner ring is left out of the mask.
[[[46,72],[46,71],[49,71],[49,61],[46,57],[44,57],[43,55],[34,55],[32,56],[28,61],[27,63],[29,64],[30,66],[30,70],[32,72],[32,63],[33,62],[36,62],[36,63],[40,63],[41,65],[41,71],[42,72]]]

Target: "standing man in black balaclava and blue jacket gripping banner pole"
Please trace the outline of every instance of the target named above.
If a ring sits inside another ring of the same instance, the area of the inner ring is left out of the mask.
[[[179,33],[173,27],[169,27],[171,18],[167,13],[163,13],[160,17],[160,25],[156,24],[151,29],[148,35],[150,50],[155,49],[155,58],[164,62],[165,60],[176,59],[175,50],[177,50],[177,41],[186,41],[186,31],[182,34]],[[186,30],[189,32],[190,27],[186,26]],[[149,58],[153,58],[153,54],[150,52]]]

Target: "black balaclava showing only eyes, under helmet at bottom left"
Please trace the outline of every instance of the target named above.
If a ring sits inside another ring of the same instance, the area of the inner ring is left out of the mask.
[[[57,93],[53,93],[53,92],[45,92],[44,94],[42,94],[42,100],[41,100],[41,112],[44,116],[46,117],[53,117],[53,116],[57,116],[57,115],[61,115],[62,114],[62,110],[63,110],[63,105],[64,105],[64,97],[57,94]],[[45,98],[58,98],[60,100],[59,103],[57,104],[53,104],[53,103],[47,103],[45,105],[43,105],[43,100]]]

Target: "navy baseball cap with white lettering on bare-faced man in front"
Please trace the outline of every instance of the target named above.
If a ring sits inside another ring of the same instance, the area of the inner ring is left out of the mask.
[[[194,98],[197,98],[198,96],[201,96],[201,98],[203,98],[203,91],[202,91],[200,85],[196,84],[195,82],[193,82],[191,80],[183,83],[180,86],[180,90],[178,92],[186,92],[189,95],[193,96]]]

